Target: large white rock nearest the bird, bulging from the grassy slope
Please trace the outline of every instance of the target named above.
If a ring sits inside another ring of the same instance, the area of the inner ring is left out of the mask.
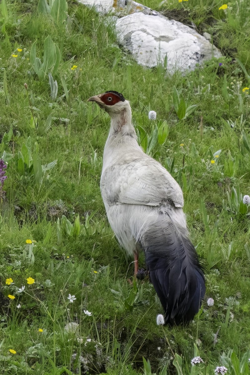
[[[119,42],[143,66],[163,65],[167,56],[167,70],[174,73],[220,57],[219,50],[195,30],[163,16],[133,13],[118,19],[116,30]]]

